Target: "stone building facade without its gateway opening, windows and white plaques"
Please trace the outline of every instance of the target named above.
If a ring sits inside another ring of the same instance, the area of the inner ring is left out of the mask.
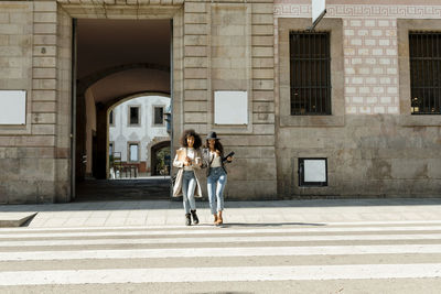
[[[411,115],[408,32],[440,32],[441,3],[326,2],[332,112],[291,116],[289,34],[310,1],[1,0],[0,90],[26,91],[26,121],[0,126],[0,203],[74,196],[73,19],[172,20],[173,149],[184,129],[217,131],[236,152],[227,198],[440,196],[441,115]],[[223,90],[247,92],[246,124],[215,123]],[[311,157],[327,185],[299,185]]]

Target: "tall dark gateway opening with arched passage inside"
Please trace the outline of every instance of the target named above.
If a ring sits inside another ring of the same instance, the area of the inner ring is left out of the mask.
[[[138,173],[126,176],[127,168],[121,168],[119,175],[125,174],[118,178],[121,181],[109,181],[109,162],[114,160],[114,154],[109,153],[117,149],[116,142],[109,145],[109,113],[116,106],[140,96],[168,97],[170,104],[171,22],[168,19],[78,19],[76,23],[76,196],[82,198],[79,200],[151,199],[153,194],[147,186],[150,182],[143,183]],[[150,110],[143,105],[137,113],[140,121],[151,119]],[[120,124],[129,127],[125,133],[128,142],[119,148],[127,153],[126,157],[133,155],[128,165],[137,165],[137,172],[146,172],[146,163],[151,160],[144,160],[142,165],[141,155],[144,154],[141,152],[147,153],[147,143],[142,143],[141,138],[133,139],[140,126],[128,122],[127,117],[130,118],[130,109]],[[153,185],[159,194],[170,195],[170,182]],[[154,197],[159,198],[159,194]]]

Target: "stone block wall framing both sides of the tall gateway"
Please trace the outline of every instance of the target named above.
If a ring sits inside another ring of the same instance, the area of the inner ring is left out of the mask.
[[[26,126],[0,128],[2,203],[71,199],[73,18],[172,19],[174,144],[187,128],[203,137],[217,131],[225,149],[236,152],[227,197],[276,196],[272,1],[49,0],[0,6],[0,22],[6,23],[0,58],[9,66],[0,72],[7,76],[0,88],[26,89],[29,98]],[[214,90],[248,92],[247,126],[214,123]]]

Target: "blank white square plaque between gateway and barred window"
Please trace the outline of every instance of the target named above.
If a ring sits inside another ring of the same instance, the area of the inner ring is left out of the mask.
[[[247,124],[248,123],[247,91],[215,91],[214,123]]]

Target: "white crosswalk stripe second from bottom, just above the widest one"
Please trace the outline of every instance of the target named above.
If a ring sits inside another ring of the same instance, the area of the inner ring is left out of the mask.
[[[399,246],[313,246],[313,247],[236,247],[236,248],[168,248],[131,250],[25,251],[0,252],[2,261],[78,260],[78,259],[164,259],[196,257],[275,257],[275,255],[342,255],[441,253],[441,244]]]

